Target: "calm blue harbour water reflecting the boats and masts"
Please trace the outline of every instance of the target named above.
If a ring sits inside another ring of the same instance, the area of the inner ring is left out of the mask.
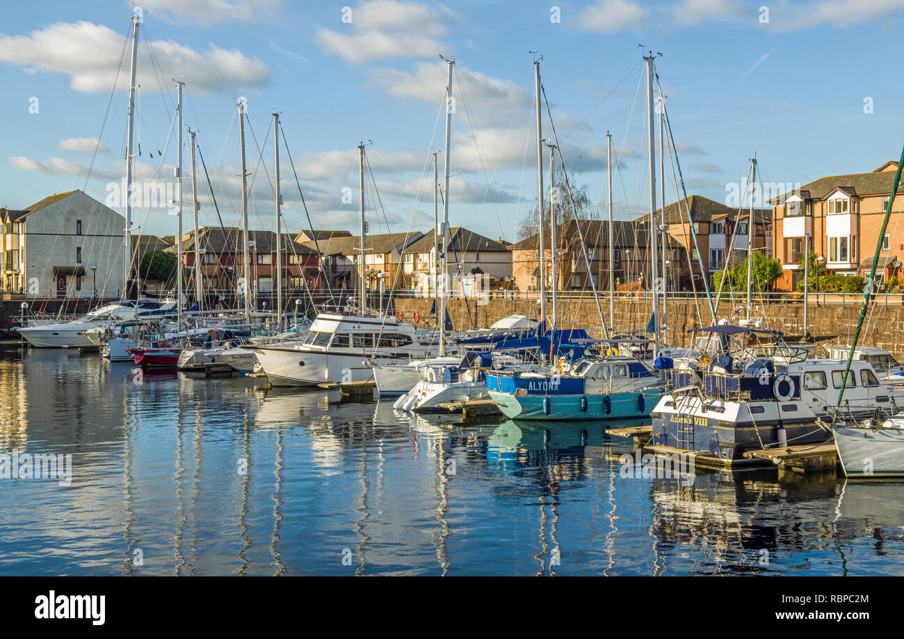
[[[73,463],[68,487],[0,479],[2,575],[904,572],[904,484],[625,477],[633,446],[603,423],[465,425],[2,348],[0,454]]]

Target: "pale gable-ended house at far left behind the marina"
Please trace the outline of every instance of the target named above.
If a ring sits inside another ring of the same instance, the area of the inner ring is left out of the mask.
[[[81,191],[0,210],[2,286],[47,297],[119,297],[126,220]],[[95,290],[96,289],[96,290]]]

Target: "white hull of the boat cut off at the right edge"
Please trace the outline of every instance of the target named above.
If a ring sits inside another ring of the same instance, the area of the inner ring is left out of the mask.
[[[904,429],[833,428],[848,477],[904,476]]]

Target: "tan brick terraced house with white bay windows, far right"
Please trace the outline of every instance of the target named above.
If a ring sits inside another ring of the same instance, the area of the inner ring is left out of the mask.
[[[879,237],[897,162],[869,173],[832,175],[770,201],[776,230],[773,250],[782,261],[780,290],[797,290],[804,277],[800,265],[809,244],[832,275],[868,276],[881,240],[876,279],[896,277],[904,259],[904,225],[897,221],[904,204],[899,187],[888,230]]]

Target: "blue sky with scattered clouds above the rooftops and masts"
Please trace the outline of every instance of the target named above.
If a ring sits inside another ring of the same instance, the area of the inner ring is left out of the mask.
[[[426,231],[431,160],[424,169],[431,145],[443,146],[440,54],[457,61],[450,223],[491,238],[513,240],[536,201],[532,50],[543,56],[542,82],[565,163],[600,211],[612,131],[619,216],[648,208],[640,83],[647,49],[663,53],[656,67],[690,194],[725,201],[754,154],[765,182],[793,184],[870,171],[896,159],[904,143],[896,50],[904,0],[348,3],[135,3],[144,15],[139,178],[173,183],[171,79],[181,76],[184,125],[198,131],[225,224],[240,220],[235,101],[244,96],[252,227],[273,227],[268,127],[278,110],[315,228],[357,229],[356,146],[363,140],[372,141],[376,189],[370,185],[365,199],[372,232]],[[117,0],[5,8],[0,205],[24,208],[74,188],[105,201],[109,185],[121,179],[127,95],[110,87],[131,14],[132,5]],[[127,56],[122,65],[119,80]],[[119,89],[125,86],[120,81]],[[184,144],[187,167],[187,134]],[[307,221],[282,151],[287,226],[303,230]],[[666,172],[671,202],[668,165]],[[191,184],[184,188],[188,198]],[[199,189],[202,224],[214,224],[203,178]],[[141,205],[136,215],[138,232],[175,230],[165,206]],[[184,223],[189,228],[190,220]]]

